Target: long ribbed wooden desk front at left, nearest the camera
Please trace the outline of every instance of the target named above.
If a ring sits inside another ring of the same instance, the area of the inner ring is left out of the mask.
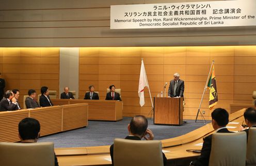
[[[74,104],[37,109],[0,112],[0,142],[17,142],[18,124],[27,117],[40,122],[40,136],[88,125],[88,104]]]

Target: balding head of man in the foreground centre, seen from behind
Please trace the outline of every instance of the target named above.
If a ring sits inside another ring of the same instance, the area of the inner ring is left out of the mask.
[[[143,115],[136,115],[130,122],[132,134],[143,136],[148,128],[148,120]]]

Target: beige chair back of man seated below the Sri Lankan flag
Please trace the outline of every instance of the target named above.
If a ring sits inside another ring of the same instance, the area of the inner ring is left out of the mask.
[[[246,132],[214,133],[209,166],[245,166]]]

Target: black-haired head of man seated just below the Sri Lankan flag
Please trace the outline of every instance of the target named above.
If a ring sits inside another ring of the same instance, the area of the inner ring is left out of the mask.
[[[226,109],[216,108],[212,112],[212,119],[215,120],[219,126],[226,126],[229,123],[229,113]]]

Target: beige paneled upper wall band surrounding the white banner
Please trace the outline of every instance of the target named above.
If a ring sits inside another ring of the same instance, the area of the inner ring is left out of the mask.
[[[0,1],[2,47],[253,45],[255,26],[110,29],[110,5],[222,0]]]

